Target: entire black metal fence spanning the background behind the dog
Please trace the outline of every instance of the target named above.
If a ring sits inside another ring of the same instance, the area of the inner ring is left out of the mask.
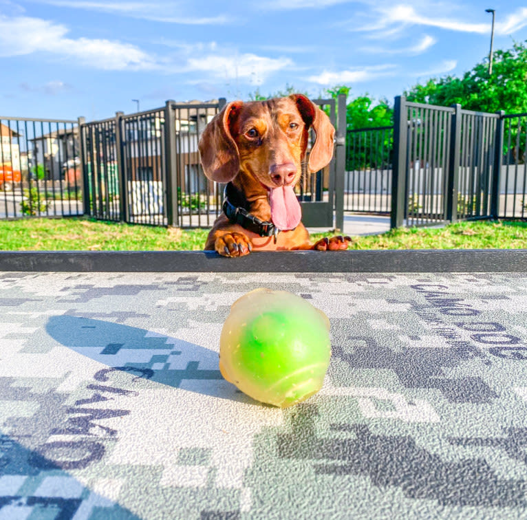
[[[308,225],[341,228],[344,211],[390,214],[392,227],[527,217],[527,113],[398,96],[393,127],[346,132],[345,96],[315,102],[338,130],[336,159],[303,172]],[[223,186],[205,177],[197,143],[224,103],[169,100],[89,123],[0,118],[0,219],[89,215],[211,226]]]

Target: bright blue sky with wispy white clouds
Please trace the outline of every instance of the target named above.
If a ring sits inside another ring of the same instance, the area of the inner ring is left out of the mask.
[[[0,0],[0,115],[108,118],[167,99],[394,96],[527,39],[517,0]]]

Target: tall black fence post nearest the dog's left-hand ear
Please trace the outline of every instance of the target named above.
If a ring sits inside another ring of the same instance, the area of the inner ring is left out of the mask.
[[[175,111],[169,99],[164,106],[164,168],[166,172],[166,219],[169,227],[178,226],[180,210],[178,205],[178,167],[175,146]]]

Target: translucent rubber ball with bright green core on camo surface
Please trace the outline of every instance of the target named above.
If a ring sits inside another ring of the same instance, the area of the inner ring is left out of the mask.
[[[219,339],[222,376],[253,399],[282,408],[321,389],[330,356],[327,316],[287,291],[241,296]]]

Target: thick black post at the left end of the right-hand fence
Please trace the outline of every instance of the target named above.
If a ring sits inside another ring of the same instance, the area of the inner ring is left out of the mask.
[[[408,109],[406,98],[405,96],[396,96],[394,104],[394,159],[391,166],[391,228],[400,228],[405,220],[407,142]]]

